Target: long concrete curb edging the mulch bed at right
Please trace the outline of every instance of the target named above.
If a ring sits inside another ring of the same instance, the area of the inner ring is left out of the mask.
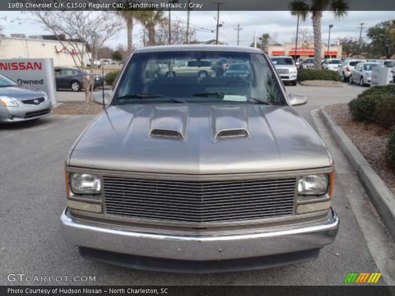
[[[322,108],[319,113],[325,124],[331,131],[337,144],[350,161],[352,167],[372,200],[377,212],[386,224],[392,237],[395,239],[395,198],[390,189],[380,179],[365,157],[347,137],[345,132],[338,126]]]

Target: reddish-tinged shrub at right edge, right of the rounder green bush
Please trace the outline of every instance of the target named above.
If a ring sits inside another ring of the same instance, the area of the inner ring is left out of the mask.
[[[375,121],[384,128],[390,128],[395,125],[395,94],[380,95],[377,102]]]

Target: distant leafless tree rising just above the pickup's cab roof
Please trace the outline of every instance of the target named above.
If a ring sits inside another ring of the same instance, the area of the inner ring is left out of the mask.
[[[168,19],[165,19],[157,25],[155,43],[157,45],[168,44],[169,40],[169,25]],[[187,28],[180,20],[171,22],[171,44],[183,44],[187,39]],[[193,43],[196,40],[196,30],[189,28],[189,42]]]

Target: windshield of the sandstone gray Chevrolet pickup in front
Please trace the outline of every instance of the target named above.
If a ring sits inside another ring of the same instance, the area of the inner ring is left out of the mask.
[[[216,65],[220,58],[229,62],[228,71],[206,67],[207,61]],[[184,61],[195,67],[176,66]],[[227,51],[135,53],[120,77],[112,104],[153,102],[286,105],[263,54]]]

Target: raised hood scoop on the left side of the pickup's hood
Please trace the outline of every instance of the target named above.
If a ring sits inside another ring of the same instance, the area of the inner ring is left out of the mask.
[[[154,107],[149,137],[187,140],[188,107]]]

